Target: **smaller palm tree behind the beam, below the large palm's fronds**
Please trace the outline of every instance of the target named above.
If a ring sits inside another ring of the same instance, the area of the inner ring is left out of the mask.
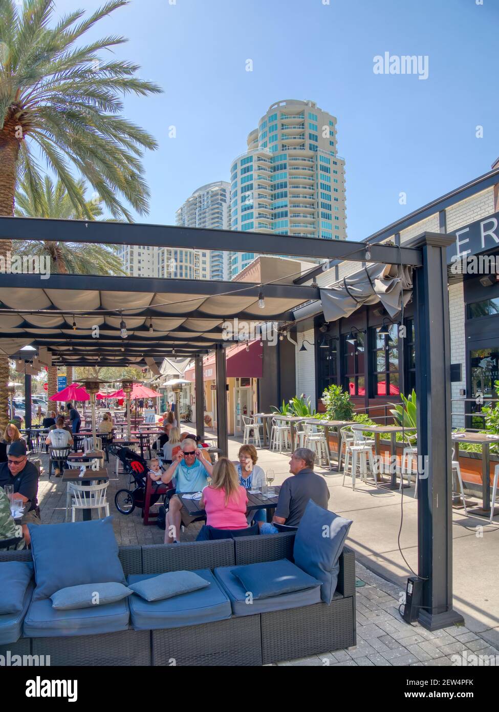
[[[100,217],[103,214],[100,200],[96,198],[85,200],[83,179],[78,180],[76,187],[83,195],[86,214],[92,215],[93,219]],[[83,211],[73,206],[63,182],[58,180],[54,187],[53,181],[48,176],[43,182],[39,206],[36,204],[30,185],[25,180],[21,181],[20,189],[16,191],[15,214],[19,217],[65,220],[78,220],[84,217]],[[29,256],[48,255],[51,258],[51,271],[59,274],[125,274],[114,245],[19,240],[13,244],[13,253]]]

